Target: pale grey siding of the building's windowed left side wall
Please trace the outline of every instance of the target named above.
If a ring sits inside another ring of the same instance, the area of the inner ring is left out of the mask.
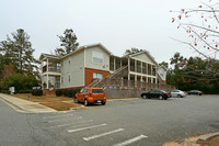
[[[62,59],[61,78],[61,88],[84,86],[84,49]]]

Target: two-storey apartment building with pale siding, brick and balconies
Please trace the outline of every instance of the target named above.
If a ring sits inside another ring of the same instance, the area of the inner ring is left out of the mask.
[[[165,80],[166,70],[163,68],[159,70],[158,63],[149,52],[118,57],[102,44],[93,44],[81,46],[62,57],[42,54],[39,60],[42,61],[42,87],[44,89],[83,88],[96,80],[113,77],[114,74],[117,74],[114,79],[123,81],[165,82],[163,80]],[[122,74],[125,69],[126,71]],[[162,78],[160,78],[161,75]],[[129,82],[126,86],[130,86]]]

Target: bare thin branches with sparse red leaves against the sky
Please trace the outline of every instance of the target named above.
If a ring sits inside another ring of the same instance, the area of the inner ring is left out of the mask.
[[[178,41],[188,45],[206,59],[219,58],[219,2],[200,2],[195,9],[181,9],[174,11],[177,16],[172,22],[177,29],[183,29],[188,41]]]

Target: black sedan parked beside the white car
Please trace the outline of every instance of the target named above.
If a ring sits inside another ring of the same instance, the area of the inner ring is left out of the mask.
[[[168,98],[171,98],[170,93],[164,90],[151,90],[141,93],[141,97],[142,99],[159,98],[160,100],[168,100]]]

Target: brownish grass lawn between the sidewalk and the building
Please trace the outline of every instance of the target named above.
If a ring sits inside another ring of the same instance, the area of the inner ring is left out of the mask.
[[[31,93],[18,93],[13,94],[13,97],[32,102],[37,102],[39,104],[53,108],[57,111],[68,111],[71,108],[81,106],[79,104],[74,104],[72,98],[66,98],[66,97],[56,97],[56,96],[35,97],[32,96]]]

